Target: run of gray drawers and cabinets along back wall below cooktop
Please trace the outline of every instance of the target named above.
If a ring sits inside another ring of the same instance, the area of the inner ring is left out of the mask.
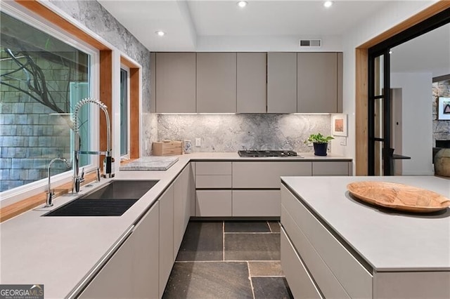
[[[280,217],[280,177],[350,175],[351,161],[196,162],[196,217]]]

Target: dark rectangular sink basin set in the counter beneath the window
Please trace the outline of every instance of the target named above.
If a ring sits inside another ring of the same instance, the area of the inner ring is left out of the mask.
[[[43,216],[120,216],[158,180],[113,180]]]

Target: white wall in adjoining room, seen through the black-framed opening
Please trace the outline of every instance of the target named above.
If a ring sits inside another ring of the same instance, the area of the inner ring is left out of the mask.
[[[432,175],[432,73],[392,73],[401,88],[403,175]]]

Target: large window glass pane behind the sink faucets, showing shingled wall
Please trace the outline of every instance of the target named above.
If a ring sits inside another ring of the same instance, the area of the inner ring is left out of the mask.
[[[89,96],[89,55],[1,12],[0,191],[47,177],[49,161],[72,161],[72,112]],[[80,112],[89,147],[89,107]],[[81,157],[80,166],[89,163]],[[51,175],[70,168],[56,161]]]

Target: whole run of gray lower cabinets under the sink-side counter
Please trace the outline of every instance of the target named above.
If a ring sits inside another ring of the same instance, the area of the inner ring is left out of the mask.
[[[161,298],[191,218],[194,192],[188,164],[79,298]]]

